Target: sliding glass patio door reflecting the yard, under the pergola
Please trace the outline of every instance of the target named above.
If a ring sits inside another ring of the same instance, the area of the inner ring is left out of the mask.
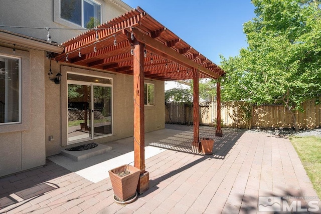
[[[106,84],[68,81],[68,143],[110,134],[112,87]]]

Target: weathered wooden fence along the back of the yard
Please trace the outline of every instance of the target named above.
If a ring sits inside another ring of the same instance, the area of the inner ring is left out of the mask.
[[[304,112],[295,113],[299,129],[321,127],[321,105],[314,100],[302,103]],[[185,103],[166,105],[166,122],[192,124],[193,107]],[[221,104],[222,127],[230,128],[292,128],[293,119],[283,105],[252,106],[245,102],[226,102]],[[216,125],[216,103],[200,104],[200,124]]]

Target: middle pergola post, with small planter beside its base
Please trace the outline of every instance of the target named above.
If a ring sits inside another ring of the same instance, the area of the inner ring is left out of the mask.
[[[194,137],[192,152],[200,153],[200,104],[199,104],[199,70],[193,70],[193,125]]]

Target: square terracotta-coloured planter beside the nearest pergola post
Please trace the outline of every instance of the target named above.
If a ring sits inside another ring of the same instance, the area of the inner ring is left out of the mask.
[[[119,176],[118,174],[129,170],[129,174]],[[114,194],[122,201],[136,194],[140,169],[132,165],[122,165],[108,171]]]

